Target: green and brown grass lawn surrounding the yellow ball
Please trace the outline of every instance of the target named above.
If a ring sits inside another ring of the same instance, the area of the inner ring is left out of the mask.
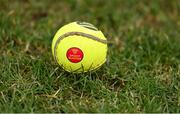
[[[0,112],[180,112],[178,0],[1,0]],[[70,74],[51,41],[86,21],[109,41],[108,62]]]

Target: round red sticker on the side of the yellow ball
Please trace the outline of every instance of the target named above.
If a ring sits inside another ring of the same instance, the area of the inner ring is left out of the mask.
[[[80,62],[83,59],[83,55],[84,55],[83,52],[79,48],[76,48],[76,47],[69,48],[66,53],[66,57],[72,63]]]

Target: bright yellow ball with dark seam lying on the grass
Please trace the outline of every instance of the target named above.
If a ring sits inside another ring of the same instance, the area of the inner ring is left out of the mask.
[[[92,24],[72,22],[55,34],[52,53],[64,70],[74,73],[87,72],[105,63],[107,40]]]

